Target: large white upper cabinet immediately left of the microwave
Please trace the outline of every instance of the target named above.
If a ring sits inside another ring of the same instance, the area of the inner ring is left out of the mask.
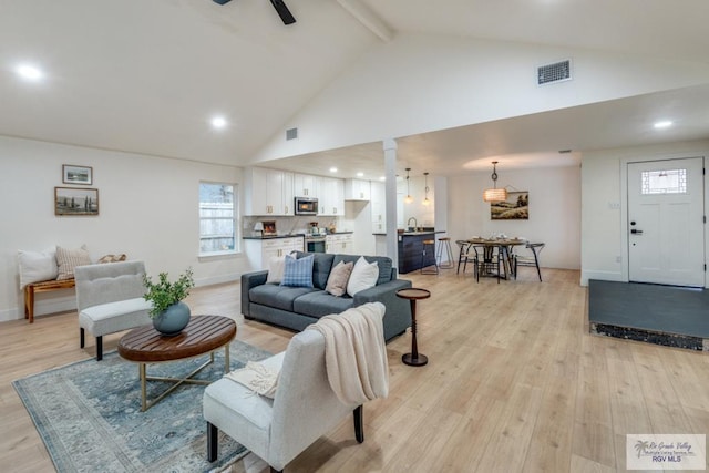
[[[244,169],[244,214],[250,216],[294,215],[294,175],[264,167]]]

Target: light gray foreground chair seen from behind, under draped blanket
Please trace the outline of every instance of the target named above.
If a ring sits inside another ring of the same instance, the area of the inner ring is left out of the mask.
[[[282,363],[282,364],[281,364]],[[264,361],[278,369],[275,398],[249,395],[248,388],[227,378],[207,387],[203,412],[207,421],[207,459],[217,459],[218,431],[257,456],[271,471],[286,464],[312,442],[352,414],[358,442],[364,441],[362,405],[346,405],[330,388],[325,366],[325,338],[316,330],[296,335],[285,352]]]

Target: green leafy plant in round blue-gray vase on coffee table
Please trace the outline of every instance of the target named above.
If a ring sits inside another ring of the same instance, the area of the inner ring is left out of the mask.
[[[192,268],[188,268],[175,281],[167,279],[167,273],[161,273],[157,282],[143,275],[146,292],[143,298],[153,302],[150,310],[153,327],[166,336],[175,336],[189,323],[189,307],[182,300],[189,295],[189,288],[195,286]]]

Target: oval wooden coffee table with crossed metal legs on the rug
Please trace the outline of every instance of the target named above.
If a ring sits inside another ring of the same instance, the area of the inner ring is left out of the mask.
[[[213,381],[192,379],[204,368],[214,362],[214,352],[224,347],[224,372],[229,368],[229,343],[236,337],[236,323],[228,317],[194,316],[182,333],[166,337],[152,325],[131,330],[119,341],[119,354],[129,361],[138,363],[141,377],[141,411],[155,405],[183,383],[209,384]],[[164,361],[178,361],[209,353],[209,360],[184,378],[148,377],[145,366]],[[152,401],[146,398],[147,381],[174,382],[172,387]]]

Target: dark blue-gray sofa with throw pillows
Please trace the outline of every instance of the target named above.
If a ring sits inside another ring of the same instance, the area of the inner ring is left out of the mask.
[[[340,313],[350,307],[379,301],[384,305],[384,339],[391,340],[411,326],[411,306],[408,300],[397,297],[397,290],[411,287],[411,281],[397,279],[397,268],[391,258],[366,256],[369,263],[377,261],[379,278],[377,285],[354,294],[335,297],[325,291],[330,269],[340,261],[353,261],[359,255],[332,255],[326,253],[297,253],[297,257],[315,255],[312,266],[312,288],[286,287],[266,284],[268,270],[242,275],[242,313],[246,319],[301,331],[322,316]]]

